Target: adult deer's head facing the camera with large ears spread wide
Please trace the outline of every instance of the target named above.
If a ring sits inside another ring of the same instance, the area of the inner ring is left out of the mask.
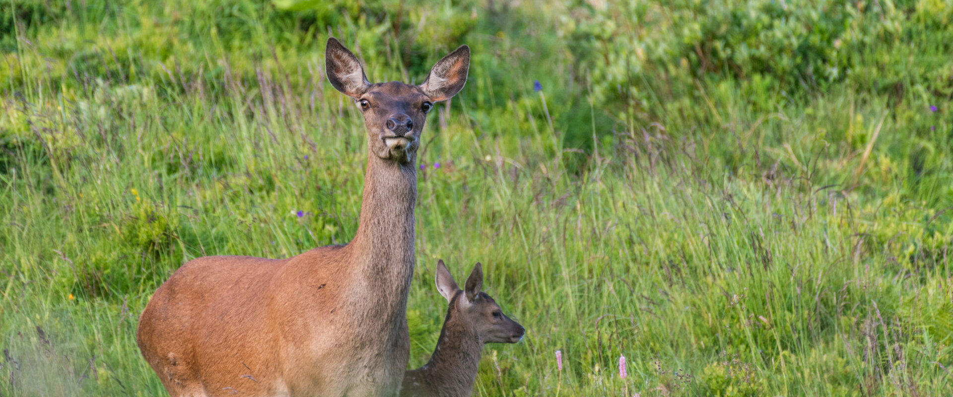
[[[427,112],[466,84],[470,48],[460,46],[443,57],[419,86],[396,81],[371,84],[355,54],[331,37],[325,50],[325,69],[331,85],[354,98],[364,113],[371,152],[384,160],[406,164],[413,162],[420,147]]]

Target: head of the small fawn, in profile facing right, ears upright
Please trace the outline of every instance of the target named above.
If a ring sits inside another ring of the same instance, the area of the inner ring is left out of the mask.
[[[460,323],[471,327],[483,343],[514,344],[523,338],[525,329],[519,323],[503,314],[497,302],[483,287],[483,270],[477,262],[465,290],[456,287],[454,277],[440,260],[436,264],[436,289],[450,303],[448,318],[461,320]]]

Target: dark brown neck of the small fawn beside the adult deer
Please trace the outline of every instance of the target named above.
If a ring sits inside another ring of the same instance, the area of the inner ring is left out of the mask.
[[[440,330],[434,355],[419,370],[442,396],[469,396],[476,382],[476,371],[483,343],[476,329],[451,314]]]

